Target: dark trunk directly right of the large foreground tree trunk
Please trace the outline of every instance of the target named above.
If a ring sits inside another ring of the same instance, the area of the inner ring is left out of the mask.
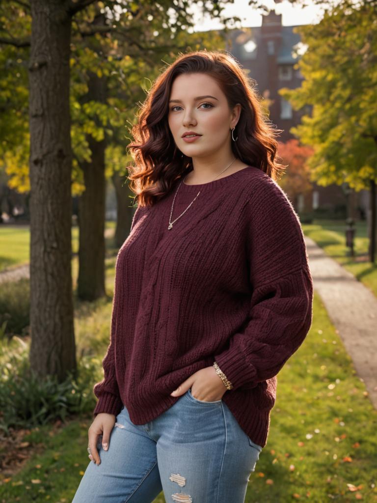
[[[85,101],[106,100],[106,79],[89,72]],[[86,139],[91,151],[90,162],[80,162],[85,191],[78,203],[79,272],[77,295],[81,300],[95,300],[106,295],[105,290],[105,148],[106,139]]]

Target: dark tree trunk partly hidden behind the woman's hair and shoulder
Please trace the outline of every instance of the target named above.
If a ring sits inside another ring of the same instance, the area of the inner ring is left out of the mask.
[[[117,196],[117,226],[115,229],[115,245],[120,248],[130,233],[134,209],[133,199],[128,197],[134,194],[128,188],[126,177],[120,177],[118,173],[112,176],[115,194]]]

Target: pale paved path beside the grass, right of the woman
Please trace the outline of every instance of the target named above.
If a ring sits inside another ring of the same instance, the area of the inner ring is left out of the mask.
[[[305,236],[314,288],[377,408],[377,298]]]

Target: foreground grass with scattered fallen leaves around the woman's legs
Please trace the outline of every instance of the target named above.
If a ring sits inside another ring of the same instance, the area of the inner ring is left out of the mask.
[[[75,319],[78,353],[92,352],[99,372],[110,313],[109,301],[82,304]],[[70,503],[88,463],[90,422],[80,417],[26,434],[26,449],[35,454],[18,473],[0,475],[0,502]],[[377,411],[315,294],[312,328],[278,376],[267,445],[246,503],[377,502],[376,452]],[[164,501],[161,492],[154,503]]]

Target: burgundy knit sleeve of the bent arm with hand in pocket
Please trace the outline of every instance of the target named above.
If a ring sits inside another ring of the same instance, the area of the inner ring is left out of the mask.
[[[245,215],[249,316],[215,355],[232,389],[253,388],[274,377],[312,324],[313,280],[300,221],[288,197],[266,175],[253,188]]]

